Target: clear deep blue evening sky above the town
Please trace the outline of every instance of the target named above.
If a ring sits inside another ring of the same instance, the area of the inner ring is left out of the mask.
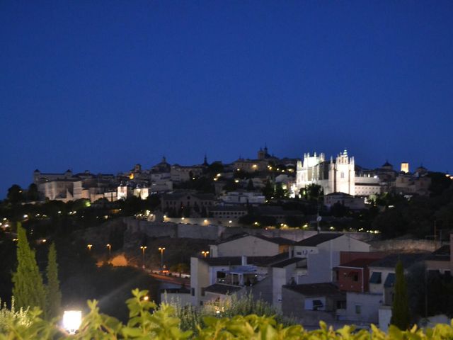
[[[453,171],[452,1],[1,1],[0,198],[32,172],[337,154]]]

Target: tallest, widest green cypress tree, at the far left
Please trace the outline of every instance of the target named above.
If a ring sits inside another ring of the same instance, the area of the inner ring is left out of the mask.
[[[17,226],[17,270],[13,273],[13,295],[18,308],[39,307],[45,311],[45,288],[35,259],[30,249],[25,229]]]

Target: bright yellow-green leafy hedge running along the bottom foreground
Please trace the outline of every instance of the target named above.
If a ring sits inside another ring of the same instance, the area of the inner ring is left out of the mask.
[[[35,308],[29,312],[30,324],[25,325],[10,319],[6,330],[0,334],[0,340],[9,339],[269,339],[269,340],[443,340],[453,339],[453,322],[451,325],[437,324],[434,329],[413,327],[401,331],[391,326],[386,334],[377,327],[372,331],[362,329],[354,332],[354,327],[345,326],[338,330],[320,323],[320,329],[306,331],[301,325],[285,327],[273,317],[259,317],[256,314],[234,317],[204,317],[197,330],[183,331],[180,319],[175,317],[175,310],[163,304],[159,309],[154,302],[145,297],[147,291],[133,290],[134,297],[127,300],[130,319],[122,324],[117,319],[99,313],[98,302],[89,301],[90,312],[84,317],[79,333],[69,335],[57,326],[57,320],[47,322],[40,319],[40,310]],[[151,312],[151,310],[155,310]]]

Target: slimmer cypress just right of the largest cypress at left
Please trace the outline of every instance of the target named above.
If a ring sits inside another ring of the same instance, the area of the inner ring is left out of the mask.
[[[59,290],[57,251],[55,244],[49,248],[47,260],[47,285],[46,285],[46,317],[58,317],[62,305],[62,292]]]

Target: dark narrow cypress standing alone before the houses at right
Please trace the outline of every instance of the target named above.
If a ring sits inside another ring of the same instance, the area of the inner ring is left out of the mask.
[[[394,289],[394,301],[391,306],[390,323],[394,324],[399,329],[405,330],[409,327],[411,314],[409,312],[406,278],[404,278],[404,269],[401,260],[396,263],[395,267]]]

